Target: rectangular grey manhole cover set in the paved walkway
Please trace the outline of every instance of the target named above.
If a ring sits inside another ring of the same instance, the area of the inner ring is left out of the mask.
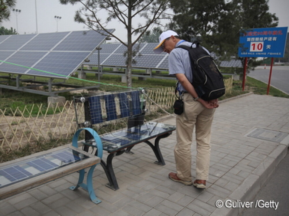
[[[255,128],[246,136],[280,143],[283,139],[285,139],[285,137],[288,136],[288,133],[263,128]]]

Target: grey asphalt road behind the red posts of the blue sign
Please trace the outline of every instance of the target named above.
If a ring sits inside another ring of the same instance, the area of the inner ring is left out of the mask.
[[[253,77],[268,84],[270,74],[270,65],[258,66],[255,70],[250,71],[249,77]],[[289,94],[289,66],[273,66],[271,76],[271,86]]]

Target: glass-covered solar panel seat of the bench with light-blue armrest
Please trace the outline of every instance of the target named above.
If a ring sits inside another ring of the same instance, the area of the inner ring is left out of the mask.
[[[80,156],[79,154],[80,153],[73,149],[65,148],[38,158],[31,158],[14,163],[13,166],[1,167],[0,188],[88,158],[88,156]]]

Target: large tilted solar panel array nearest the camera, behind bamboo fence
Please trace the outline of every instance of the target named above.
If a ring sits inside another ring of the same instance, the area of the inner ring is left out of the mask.
[[[105,41],[105,37],[93,30],[0,35],[0,60],[24,66],[0,62],[0,71],[67,78]]]

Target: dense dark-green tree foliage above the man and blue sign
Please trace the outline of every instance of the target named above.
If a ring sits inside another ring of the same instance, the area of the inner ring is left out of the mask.
[[[170,26],[186,40],[202,45],[224,59],[238,53],[243,29],[276,27],[278,18],[268,12],[268,0],[171,0],[175,12]]]

